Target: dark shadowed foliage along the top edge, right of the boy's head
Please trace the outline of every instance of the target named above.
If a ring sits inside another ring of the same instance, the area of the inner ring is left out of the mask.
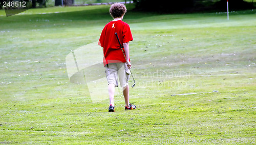
[[[229,0],[229,10],[245,10],[253,9],[253,3],[248,3],[243,0]],[[226,0],[183,0],[183,1],[169,1],[169,0],[138,0],[136,9],[138,11],[151,12],[200,12],[200,11],[216,11],[226,10]]]

